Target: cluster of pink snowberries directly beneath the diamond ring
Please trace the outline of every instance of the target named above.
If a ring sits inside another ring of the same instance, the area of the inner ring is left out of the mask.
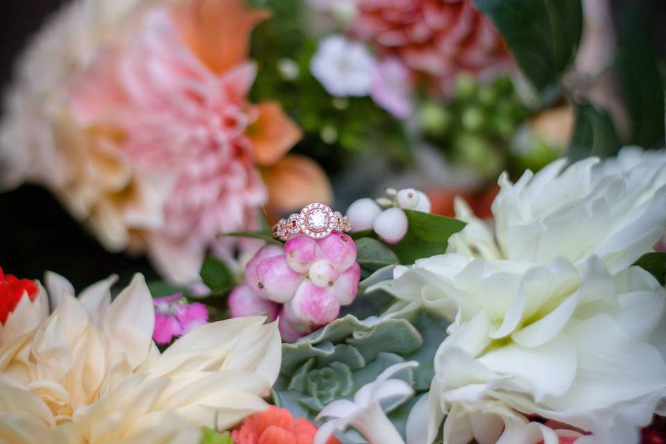
[[[292,237],[284,246],[267,245],[248,262],[246,283],[229,296],[233,317],[280,316],[284,341],[296,341],[337,318],[341,305],[356,297],[361,267],[347,234],[323,239]]]

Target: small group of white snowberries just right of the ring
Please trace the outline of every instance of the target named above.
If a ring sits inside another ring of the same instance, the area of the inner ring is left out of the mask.
[[[402,209],[430,212],[430,199],[413,188],[387,189],[388,198],[356,200],[347,210],[352,230],[370,230],[388,244],[395,244],[407,233],[407,216]],[[382,207],[386,207],[383,209]]]

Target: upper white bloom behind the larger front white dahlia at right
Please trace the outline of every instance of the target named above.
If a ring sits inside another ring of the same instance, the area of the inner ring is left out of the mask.
[[[617,159],[565,165],[527,171],[515,185],[503,174],[494,232],[458,202],[456,216],[468,226],[451,237],[449,251],[540,264],[556,257],[581,264],[597,255],[615,273],[666,232],[665,151],[624,148]]]

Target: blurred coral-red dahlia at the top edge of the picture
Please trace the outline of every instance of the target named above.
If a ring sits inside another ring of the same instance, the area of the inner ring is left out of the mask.
[[[513,67],[504,41],[471,0],[358,0],[358,10],[352,33],[442,94],[459,73],[485,81]]]

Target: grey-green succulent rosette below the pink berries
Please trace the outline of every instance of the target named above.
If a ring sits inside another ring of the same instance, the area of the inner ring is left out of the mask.
[[[413,386],[413,400],[400,407],[383,406],[404,435],[411,404],[419,393],[429,390],[434,355],[446,337],[448,324],[427,309],[407,319],[373,317],[359,321],[350,314],[336,319],[296,343],[282,345],[280,376],[273,385],[275,404],[289,409],[293,416],[314,421],[327,404],[351,400],[359,388],[373,382],[388,366],[415,360],[419,362],[417,368],[395,376]],[[339,438],[343,443],[364,442],[353,430]]]

